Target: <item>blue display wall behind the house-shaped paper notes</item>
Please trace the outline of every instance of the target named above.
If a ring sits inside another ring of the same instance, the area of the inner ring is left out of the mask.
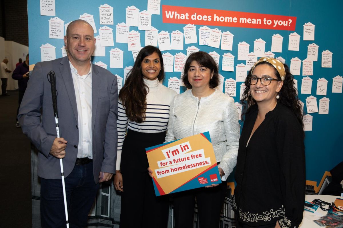
[[[58,0],[56,1],[56,16],[68,23],[75,19],[78,19],[83,13],[89,13],[94,15],[94,21],[96,28],[99,29],[99,9],[100,4],[109,4],[114,7],[114,25],[107,25],[113,28],[114,41],[115,31],[117,23],[125,22],[126,8],[127,6],[134,5],[140,11],[146,10],[147,0],[141,1],[98,1],[98,0]],[[326,78],[328,82],[327,96],[330,99],[329,115],[318,115],[318,113],[311,113],[313,116],[313,128],[312,131],[307,131],[305,136],[306,146],[306,179],[320,182],[322,175],[325,171],[330,170],[333,166],[343,160],[343,152],[341,149],[341,140],[343,138],[343,119],[342,113],[342,93],[331,93],[332,78],[340,75],[343,76],[343,46],[342,37],[343,31],[341,29],[341,10],[343,9],[343,3],[340,0],[330,1],[327,4],[321,0],[304,0],[304,1],[291,1],[285,0],[282,3],[279,2],[265,2],[265,1],[252,1],[252,0],[230,0],[230,1],[205,1],[205,0],[162,0],[161,1],[161,14],[152,15],[152,26],[159,31],[165,30],[171,33],[173,30],[180,30],[183,32],[182,27],[185,24],[163,24],[162,23],[162,4],[165,5],[178,5],[194,8],[205,9],[220,9],[230,11],[241,11],[251,13],[264,13],[264,14],[276,14],[285,16],[297,17],[295,31],[286,30],[268,30],[268,29],[252,29],[252,28],[236,28],[236,27],[217,27],[224,31],[230,31],[234,35],[233,50],[229,51],[235,56],[235,66],[245,61],[237,61],[237,44],[239,42],[247,42],[250,44],[250,52],[253,51],[253,41],[255,39],[263,39],[266,41],[265,51],[270,51],[271,41],[273,34],[279,33],[284,37],[282,53],[274,53],[275,57],[282,56],[286,59],[286,64],[290,65],[292,57],[298,57],[303,60],[307,57],[307,45],[310,43],[316,43],[319,45],[318,61],[314,62],[314,75],[310,76],[313,79],[312,82],[312,94],[317,97],[317,103],[323,96],[316,95],[317,79]],[[40,62],[40,46],[42,44],[50,43],[56,47],[56,58],[62,57],[61,47],[63,45],[62,39],[49,39],[49,19],[54,16],[40,16],[39,1],[28,0],[28,24],[29,24],[29,53],[30,63],[34,64]],[[316,25],[315,27],[315,40],[303,41],[303,25],[307,22],[311,22]],[[103,25],[101,25],[103,26]],[[197,26],[197,36],[199,35],[198,29],[201,25]],[[208,26],[211,29],[216,26]],[[130,30],[138,30],[138,27],[130,27]],[[141,33],[141,44],[144,46],[145,31],[139,30]],[[299,51],[287,51],[288,50],[288,35],[291,32],[297,32],[300,37],[300,49]],[[99,33],[95,33],[95,36]],[[199,41],[199,37],[198,37]],[[184,44],[184,50],[169,50],[163,53],[169,52],[172,55],[179,53],[180,51],[186,54],[188,46],[197,46],[201,51],[213,52],[216,51],[221,55],[220,57],[220,74],[228,78],[236,78],[236,72],[221,71],[222,55],[228,51],[221,49],[211,48],[209,46],[194,44]],[[126,43],[114,43],[112,47],[106,47],[105,57],[93,57],[93,62],[102,61],[106,63],[107,69],[113,74],[118,74],[123,77],[123,69],[109,68],[109,54],[111,48],[119,48],[124,51],[123,66],[132,66],[133,58],[131,51],[128,51]],[[333,53],[332,68],[321,68],[321,52],[324,50],[330,50]],[[301,71],[300,71],[301,72]],[[167,72],[166,79],[169,77],[180,78],[180,72]],[[295,76],[298,80],[299,98],[306,103],[306,98],[309,94],[300,94],[301,79],[303,76]],[[168,81],[164,80],[164,84],[167,86]],[[240,82],[237,83],[238,87]],[[181,89],[184,91],[185,88]],[[239,88],[236,90],[235,101],[239,100]],[[306,104],[305,104],[306,114]],[[233,181],[233,175],[229,177],[229,181]]]

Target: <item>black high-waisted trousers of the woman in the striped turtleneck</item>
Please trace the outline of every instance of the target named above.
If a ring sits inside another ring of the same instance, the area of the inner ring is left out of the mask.
[[[168,223],[169,196],[155,196],[145,148],[164,142],[165,132],[140,133],[128,130],[124,140],[120,169],[123,176],[120,228],[165,228]],[[132,217],[132,215],[134,215]]]

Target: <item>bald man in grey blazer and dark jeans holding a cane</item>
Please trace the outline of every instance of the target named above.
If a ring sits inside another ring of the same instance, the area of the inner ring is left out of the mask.
[[[95,42],[90,24],[71,22],[64,37],[67,57],[36,64],[20,106],[22,130],[40,151],[42,227],[66,226],[59,159],[70,227],[86,226],[99,182],[116,171],[117,78],[91,63]],[[60,138],[47,78],[51,70],[56,74]]]

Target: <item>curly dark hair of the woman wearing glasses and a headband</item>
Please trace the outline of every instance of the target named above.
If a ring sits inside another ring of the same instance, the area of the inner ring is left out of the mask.
[[[256,64],[255,68],[258,65],[262,65],[262,64],[267,64],[271,66],[274,69],[274,74],[277,77],[277,79],[281,80],[280,73],[276,70],[275,67],[273,67],[272,64],[270,64],[267,61],[262,61]],[[280,98],[277,99],[277,102],[280,102],[281,104],[291,109],[293,113],[295,114],[295,116],[297,117],[301,125],[301,128],[304,129],[303,112],[301,110],[301,105],[299,103],[297,89],[295,88],[295,84],[293,81],[294,76],[292,75],[291,72],[289,72],[288,66],[286,64],[284,64],[284,66],[285,66],[286,76],[285,76],[285,80],[283,81],[283,86],[279,93]],[[251,74],[252,74],[252,68],[250,69],[248,76],[245,79],[244,84],[246,88],[244,89],[242,99],[240,100],[240,103],[243,105],[242,110],[246,110],[245,112],[242,111],[242,120],[244,119],[244,115],[249,112],[249,107],[256,104],[256,101],[254,100],[254,98],[252,98],[251,93],[250,93],[249,78],[251,77]]]

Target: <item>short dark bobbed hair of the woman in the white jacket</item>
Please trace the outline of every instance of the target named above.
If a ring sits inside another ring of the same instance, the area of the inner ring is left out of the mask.
[[[192,85],[188,81],[188,70],[193,61],[196,61],[200,66],[209,68],[211,70],[213,77],[210,79],[210,88],[216,88],[219,84],[218,66],[209,53],[200,51],[190,54],[186,60],[184,67],[184,78],[182,81],[186,85],[187,89],[192,89]]]

